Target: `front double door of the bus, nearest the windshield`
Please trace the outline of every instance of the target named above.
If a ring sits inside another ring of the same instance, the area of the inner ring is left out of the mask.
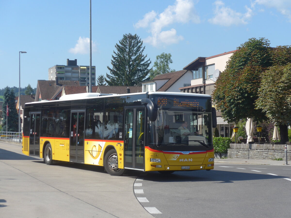
[[[124,166],[144,170],[145,108],[125,109]]]

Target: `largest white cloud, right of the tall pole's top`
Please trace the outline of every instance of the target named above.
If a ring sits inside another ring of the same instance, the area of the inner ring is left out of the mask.
[[[153,46],[160,44],[173,44],[183,40],[183,36],[177,35],[174,28],[162,31],[163,28],[177,23],[188,23],[189,21],[199,23],[200,18],[194,10],[193,0],[176,0],[174,5],[168,6],[162,13],[157,15],[155,11],[148,12],[142,20],[139,20],[134,27],[149,28],[151,33],[144,42]]]

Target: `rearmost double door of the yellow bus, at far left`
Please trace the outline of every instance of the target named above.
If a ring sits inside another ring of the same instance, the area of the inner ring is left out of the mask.
[[[30,113],[29,156],[39,157],[40,112]]]

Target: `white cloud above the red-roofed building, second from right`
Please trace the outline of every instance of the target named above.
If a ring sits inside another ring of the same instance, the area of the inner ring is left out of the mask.
[[[247,21],[252,16],[251,8],[246,8],[246,12],[244,14],[236,12],[230,7],[226,7],[224,3],[220,0],[214,2],[214,17],[208,19],[208,21],[212,24],[218,24],[221,26],[232,26],[232,25],[240,25],[247,24]]]

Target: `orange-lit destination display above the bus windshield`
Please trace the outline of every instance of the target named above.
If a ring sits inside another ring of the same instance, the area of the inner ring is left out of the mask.
[[[182,107],[199,107],[199,101],[196,100],[188,100],[178,98],[168,99],[168,98],[157,98],[157,106],[182,106]]]

